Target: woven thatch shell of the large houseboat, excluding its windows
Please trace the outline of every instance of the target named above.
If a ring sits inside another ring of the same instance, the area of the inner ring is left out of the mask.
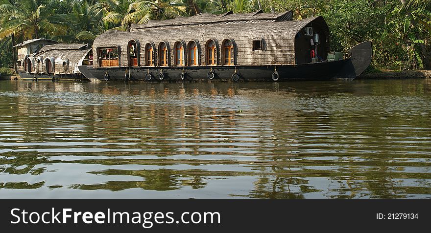
[[[263,14],[263,13],[259,13]],[[214,16],[216,17],[216,16]],[[252,16],[254,17],[254,16]],[[193,18],[193,17],[191,17]],[[275,18],[275,16],[274,16]],[[160,23],[162,23],[161,21]],[[220,25],[199,25],[189,27],[165,28],[157,27],[148,30],[135,30],[131,32],[109,30],[99,35],[94,44],[93,54],[97,59],[96,48],[116,45],[120,47],[120,66],[127,66],[127,44],[134,40],[140,46],[140,64],[145,64],[145,44],[154,43],[156,56],[157,46],[160,42],[167,42],[170,51],[170,64],[173,64],[173,46],[177,41],[186,44],[195,41],[199,49],[199,65],[206,63],[205,43],[209,40],[216,42],[217,57],[220,61],[223,51],[222,42],[229,39],[234,44],[236,53],[234,63],[236,65],[286,65],[296,64],[295,37],[301,29],[308,24],[318,25],[329,38],[329,29],[323,17],[312,17],[300,21],[273,21],[273,22],[249,22],[231,23]],[[263,44],[262,51],[252,50],[252,41],[260,38]],[[156,59],[157,61],[157,59]],[[95,66],[97,66],[95,60]]]

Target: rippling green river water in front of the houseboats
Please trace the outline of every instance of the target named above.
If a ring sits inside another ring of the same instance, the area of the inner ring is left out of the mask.
[[[0,82],[3,198],[431,198],[431,80]]]

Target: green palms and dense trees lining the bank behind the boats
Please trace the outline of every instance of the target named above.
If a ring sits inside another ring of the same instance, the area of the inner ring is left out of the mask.
[[[24,40],[92,43],[132,23],[259,9],[293,10],[294,20],[322,15],[332,51],[373,40],[373,69],[431,69],[431,0],[0,0],[0,67]]]

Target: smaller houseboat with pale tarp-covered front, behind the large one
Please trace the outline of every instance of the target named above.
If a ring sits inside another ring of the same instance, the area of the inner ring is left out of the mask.
[[[91,65],[93,55],[89,44],[58,43],[35,39],[17,44],[18,69],[26,80],[85,81],[78,65]]]

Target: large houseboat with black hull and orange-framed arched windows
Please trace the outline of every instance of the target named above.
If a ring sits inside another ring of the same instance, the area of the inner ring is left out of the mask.
[[[149,21],[107,31],[93,48],[94,64],[79,70],[106,81],[354,79],[372,57],[363,42],[335,61],[323,17],[292,21],[292,11]]]

